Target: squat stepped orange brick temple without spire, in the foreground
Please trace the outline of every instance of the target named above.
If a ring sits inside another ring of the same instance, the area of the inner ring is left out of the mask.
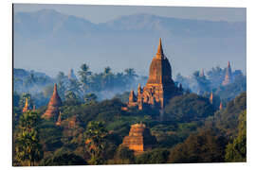
[[[132,125],[129,136],[125,136],[122,142],[123,146],[134,150],[135,155],[143,153],[146,149],[152,148],[155,144],[155,136],[152,136],[150,129],[142,123]]]

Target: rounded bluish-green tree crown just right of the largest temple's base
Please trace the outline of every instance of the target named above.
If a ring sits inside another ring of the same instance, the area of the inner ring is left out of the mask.
[[[200,120],[213,113],[209,99],[195,93],[174,96],[165,107],[166,118],[175,122]]]

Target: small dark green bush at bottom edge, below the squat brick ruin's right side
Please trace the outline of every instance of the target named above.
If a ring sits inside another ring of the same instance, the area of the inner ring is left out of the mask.
[[[144,152],[138,155],[136,158],[136,163],[147,164],[147,163],[166,163],[169,156],[169,151],[167,149],[154,149],[151,151]]]

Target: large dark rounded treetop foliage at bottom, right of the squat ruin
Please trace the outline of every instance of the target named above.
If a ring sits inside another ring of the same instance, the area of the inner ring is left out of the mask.
[[[222,162],[224,161],[226,138],[213,128],[192,134],[171,150],[169,162]]]

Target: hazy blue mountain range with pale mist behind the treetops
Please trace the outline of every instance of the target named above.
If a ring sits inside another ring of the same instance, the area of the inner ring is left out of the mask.
[[[106,23],[53,9],[13,16],[14,67],[55,76],[87,63],[94,72],[132,67],[147,75],[161,37],[175,74],[226,66],[246,71],[246,22],[206,21],[137,13]]]

